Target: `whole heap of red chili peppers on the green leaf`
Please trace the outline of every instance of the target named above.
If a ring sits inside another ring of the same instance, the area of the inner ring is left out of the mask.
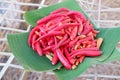
[[[67,8],[59,8],[37,21],[31,30],[28,44],[42,55],[52,54],[53,65],[58,61],[70,70],[83,62],[85,57],[101,55],[102,38],[95,39],[99,31],[86,17]]]

